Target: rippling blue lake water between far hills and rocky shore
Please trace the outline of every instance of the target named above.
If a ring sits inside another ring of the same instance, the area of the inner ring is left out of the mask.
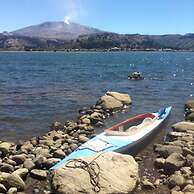
[[[130,81],[130,71],[145,79]],[[132,96],[133,105],[106,122],[172,105],[170,124],[183,119],[194,95],[194,53],[0,53],[0,139],[42,135],[55,121],[75,119],[107,90]]]

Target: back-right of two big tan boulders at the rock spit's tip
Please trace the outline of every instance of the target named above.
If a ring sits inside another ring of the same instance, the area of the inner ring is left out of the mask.
[[[122,102],[125,105],[130,105],[132,103],[131,97],[129,94],[119,93],[119,92],[107,92],[106,95],[112,96],[118,101]]]

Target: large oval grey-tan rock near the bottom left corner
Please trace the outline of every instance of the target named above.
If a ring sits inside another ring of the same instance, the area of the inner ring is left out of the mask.
[[[16,187],[18,191],[23,191],[25,188],[24,181],[17,174],[10,174],[7,177],[7,183],[9,187]]]

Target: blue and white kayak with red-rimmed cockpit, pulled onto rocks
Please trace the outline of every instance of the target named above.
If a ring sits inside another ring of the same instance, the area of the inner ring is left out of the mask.
[[[172,107],[161,108],[156,113],[141,114],[116,124],[82,144],[51,169],[58,169],[69,160],[92,156],[101,152],[127,153],[130,148],[141,143],[158,129],[170,114],[171,109]]]

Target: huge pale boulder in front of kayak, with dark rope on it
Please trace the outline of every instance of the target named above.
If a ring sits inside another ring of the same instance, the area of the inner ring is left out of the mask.
[[[83,158],[100,167],[99,193],[130,193],[139,179],[138,164],[130,155],[115,152]],[[96,193],[90,176],[80,168],[62,167],[52,172],[53,193]]]

